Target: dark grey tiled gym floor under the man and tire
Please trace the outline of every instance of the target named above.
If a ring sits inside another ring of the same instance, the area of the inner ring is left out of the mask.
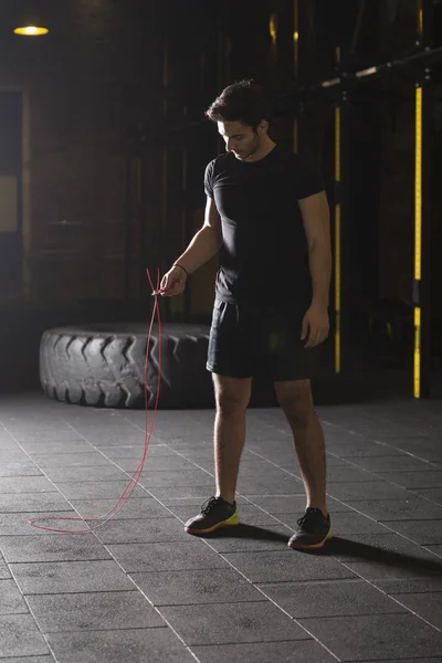
[[[126,507],[61,535],[28,520],[107,513],[145,415],[2,396],[1,663],[441,662],[442,402],[318,412],[335,537],[302,554],[286,546],[304,493],[278,410],[249,412],[239,528],[183,532],[213,493],[213,412],[160,411]]]

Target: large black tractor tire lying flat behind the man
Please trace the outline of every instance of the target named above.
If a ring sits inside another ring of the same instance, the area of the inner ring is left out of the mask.
[[[159,409],[211,408],[206,370],[209,327],[162,325]],[[143,409],[148,324],[113,323],[60,327],[43,333],[40,382],[50,398],[94,408]],[[151,335],[147,402],[157,398],[159,337]]]

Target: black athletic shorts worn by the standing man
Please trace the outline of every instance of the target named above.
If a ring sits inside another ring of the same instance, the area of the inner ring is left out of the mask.
[[[275,382],[311,379],[322,346],[305,349],[305,311],[242,306],[215,301],[207,369],[232,378],[262,376]]]

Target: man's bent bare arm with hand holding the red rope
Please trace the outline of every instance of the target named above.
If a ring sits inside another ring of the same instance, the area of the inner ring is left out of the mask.
[[[186,251],[175,261],[173,266],[161,281],[165,296],[180,295],[185,287],[187,275],[209,262],[222,244],[221,220],[215,202],[209,196],[206,202],[204,224],[194,234]],[[175,266],[180,265],[180,266]]]

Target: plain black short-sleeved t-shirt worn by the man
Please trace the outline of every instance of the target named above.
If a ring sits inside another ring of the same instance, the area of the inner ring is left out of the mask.
[[[221,217],[217,298],[308,307],[312,280],[297,201],[324,190],[320,176],[276,145],[257,161],[219,156],[206,169],[204,190]]]

